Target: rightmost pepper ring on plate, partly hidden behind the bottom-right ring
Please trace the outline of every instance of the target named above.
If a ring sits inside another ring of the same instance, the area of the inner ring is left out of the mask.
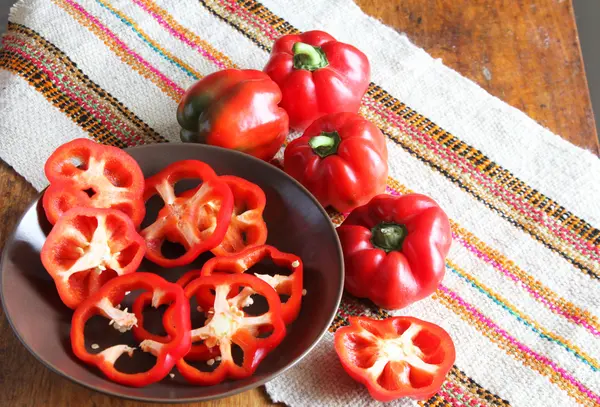
[[[300,257],[281,252],[273,246],[257,246],[232,256],[214,257],[204,264],[201,274],[202,276],[210,276],[214,273],[245,273],[267,257],[276,266],[290,270],[291,274],[289,276],[280,274],[274,276],[268,274],[254,275],[273,287],[277,294],[289,296],[287,301],[281,305],[281,315],[284,322],[290,324],[298,317],[300,305],[302,304],[303,265]],[[193,277],[193,274],[190,273],[193,272],[188,272],[184,277],[188,279]],[[181,280],[184,280],[184,277]],[[204,294],[198,299],[201,304],[212,301],[212,296],[207,295],[207,293],[201,292],[200,294]],[[250,295],[252,294],[250,293]]]

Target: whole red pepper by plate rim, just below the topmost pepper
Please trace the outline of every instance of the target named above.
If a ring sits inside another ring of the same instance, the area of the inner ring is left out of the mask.
[[[283,165],[321,205],[346,212],[385,190],[387,146],[374,124],[354,113],[334,113],[287,146]]]

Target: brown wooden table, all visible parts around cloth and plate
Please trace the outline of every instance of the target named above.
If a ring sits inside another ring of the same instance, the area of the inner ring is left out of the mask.
[[[567,140],[600,153],[571,1],[357,3],[493,95]],[[0,247],[35,193],[0,162]],[[256,389],[204,405],[270,404],[264,389]],[[19,343],[4,316],[0,317],[0,405],[146,406],[87,390],[51,373]]]

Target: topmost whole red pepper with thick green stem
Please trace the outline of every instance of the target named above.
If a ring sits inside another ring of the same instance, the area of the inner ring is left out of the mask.
[[[365,54],[323,31],[280,37],[264,71],[281,88],[290,127],[300,131],[328,113],[358,112],[371,75]]]

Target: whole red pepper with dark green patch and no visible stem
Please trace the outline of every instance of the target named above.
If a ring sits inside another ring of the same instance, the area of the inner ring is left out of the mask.
[[[192,85],[179,102],[184,142],[206,143],[270,160],[288,134],[281,91],[264,72],[224,69]]]

